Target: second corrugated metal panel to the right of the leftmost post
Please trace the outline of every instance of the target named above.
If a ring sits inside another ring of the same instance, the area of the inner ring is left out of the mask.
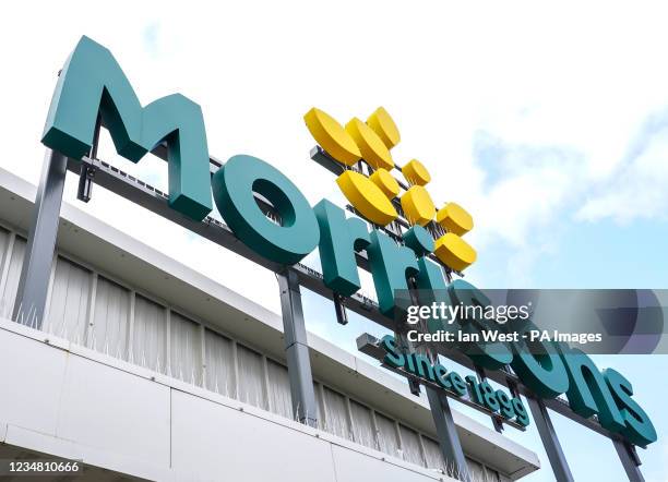
[[[130,321],[130,291],[97,277],[91,347],[114,357],[128,359],[128,326]]]

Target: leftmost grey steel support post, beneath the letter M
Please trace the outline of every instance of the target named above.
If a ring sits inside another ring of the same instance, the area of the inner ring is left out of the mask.
[[[14,321],[35,328],[41,327],[46,308],[67,168],[65,156],[47,149],[12,313]]]

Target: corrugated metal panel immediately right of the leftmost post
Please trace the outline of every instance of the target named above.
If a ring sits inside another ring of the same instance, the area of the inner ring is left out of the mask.
[[[91,280],[91,272],[58,256],[45,332],[85,345]]]

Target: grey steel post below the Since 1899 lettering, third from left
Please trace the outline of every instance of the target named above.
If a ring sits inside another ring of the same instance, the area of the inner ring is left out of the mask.
[[[452,418],[448,397],[445,394],[431,387],[426,387],[425,391],[427,391],[427,399],[429,400],[431,417],[437,427],[439,447],[445,460],[448,474],[468,482],[470,481],[470,472],[464,457],[464,450],[462,450],[462,443],[457,434],[457,426]]]

